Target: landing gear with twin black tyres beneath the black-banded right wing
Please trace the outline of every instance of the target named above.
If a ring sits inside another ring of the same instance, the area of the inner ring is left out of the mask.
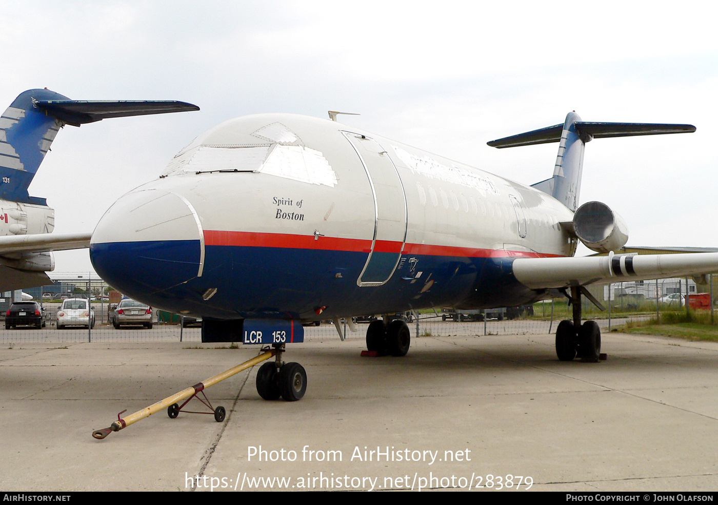
[[[596,363],[601,357],[601,330],[595,321],[581,324],[581,288],[571,287],[569,297],[574,308],[574,319],[563,320],[556,328],[556,355],[561,361],[580,358]]]

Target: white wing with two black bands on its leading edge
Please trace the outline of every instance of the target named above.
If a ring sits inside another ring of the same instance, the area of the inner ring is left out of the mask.
[[[512,268],[524,286],[550,289],[717,272],[718,253],[517,258]]]

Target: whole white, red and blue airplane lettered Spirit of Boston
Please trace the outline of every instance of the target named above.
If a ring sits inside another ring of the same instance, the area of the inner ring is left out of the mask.
[[[617,254],[623,218],[584,203],[585,144],[695,131],[687,124],[564,123],[498,139],[497,148],[558,142],[554,174],[528,186],[332,120],[272,113],[205,131],[159,179],[123,195],[93,231],[95,271],[153,307],[202,318],[203,342],[273,346],[258,370],[264,399],[300,399],[307,374],[283,363],[300,323],[383,314],[368,351],[404,356],[409,328],[386,315],[452,306],[526,305],[566,296],[561,361],[600,358],[582,322],[586,286],[718,270],[718,254]],[[607,256],[574,257],[578,242]],[[600,305],[600,304],[599,304]],[[342,337],[343,338],[343,337]]]

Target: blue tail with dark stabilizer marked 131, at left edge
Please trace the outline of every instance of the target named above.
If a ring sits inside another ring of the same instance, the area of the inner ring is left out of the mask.
[[[176,101],[75,101],[47,89],[24,91],[0,118],[0,199],[47,205],[45,198],[29,196],[27,187],[65,124],[197,110]]]

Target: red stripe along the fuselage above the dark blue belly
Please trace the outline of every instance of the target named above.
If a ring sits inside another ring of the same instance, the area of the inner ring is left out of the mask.
[[[378,240],[374,246],[377,252],[416,254],[425,256],[454,256],[462,258],[493,258],[512,256],[519,258],[540,258],[559,256],[533,251],[507,251],[505,249],[476,249],[472,247],[434,246],[432,244],[404,244]],[[362,238],[337,238],[290,233],[257,233],[253,231],[205,230],[205,246],[277,247],[286,249],[317,249],[320,251],[353,251],[368,253],[371,241]]]

